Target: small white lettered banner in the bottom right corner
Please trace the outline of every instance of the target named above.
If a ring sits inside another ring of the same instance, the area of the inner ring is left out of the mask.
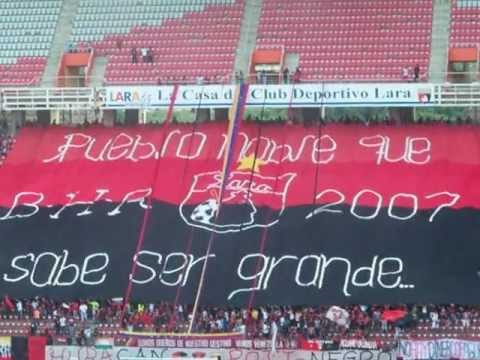
[[[402,340],[398,356],[405,360],[480,359],[480,342],[458,339]]]

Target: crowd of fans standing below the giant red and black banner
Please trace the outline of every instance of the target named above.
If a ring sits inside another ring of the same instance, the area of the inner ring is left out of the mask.
[[[468,329],[480,320],[479,306],[401,305],[345,306],[347,321],[339,324],[328,317],[327,306],[263,306],[251,309],[203,307],[195,316],[195,333],[238,332],[250,339],[270,339],[273,322],[282,341],[298,343],[305,339],[339,341],[341,338],[380,341],[379,335],[390,338],[414,334],[419,324],[432,331],[456,326]],[[387,319],[391,310],[403,313]],[[125,309],[121,299],[53,301],[47,298],[13,299],[5,296],[0,302],[3,319],[23,319],[31,324],[33,334],[66,336],[77,343],[88,343],[105,324],[117,324],[128,331],[186,332],[191,321],[191,306],[171,303],[131,303]],[[53,321],[53,329],[40,329],[42,320]]]

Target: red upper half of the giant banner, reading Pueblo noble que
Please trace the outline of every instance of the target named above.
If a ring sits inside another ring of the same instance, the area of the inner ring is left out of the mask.
[[[148,196],[157,161],[155,199],[215,199],[227,124],[193,129],[23,129],[0,168],[0,205],[134,202]],[[480,129],[470,126],[242,124],[224,204],[283,210],[316,196],[316,204],[328,204],[323,212],[339,204],[479,207],[479,144]]]

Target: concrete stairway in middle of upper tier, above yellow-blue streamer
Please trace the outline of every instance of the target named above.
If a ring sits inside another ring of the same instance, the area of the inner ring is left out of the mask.
[[[248,65],[250,56],[257,44],[257,30],[262,12],[262,0],[246,0],[243,13],[242,27],[240,29],[240,39],[238,41],[237,52],[235,56],[235,71],[241,71],[248,74]]]

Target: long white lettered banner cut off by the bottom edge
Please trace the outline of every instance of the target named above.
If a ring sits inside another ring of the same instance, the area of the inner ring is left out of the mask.
[[[378,350],[304,351],[255,349],[184,349],[154,347],[114,347],[97,349],[79,346],[47,346],[45,360],[395,360],[392,352]]]

